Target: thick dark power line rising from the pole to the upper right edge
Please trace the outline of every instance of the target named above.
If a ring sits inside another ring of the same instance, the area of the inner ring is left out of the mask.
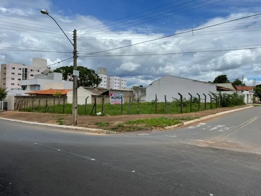
[[[254,15],[250,15],[250,16],[246,16],[246,17],[241,17],[241,18],[237,18],[237,19],[234,19],[234,20],[229,20],[229,21],[226,21],[226,22],[223,22],[223,23],[218,23],[218,24],[215,24],[215,25],[210,25],[210,26],[206,26],[206,27],[201,27],[201,28],[199,28],[199,29],[193,29],[193,30],[189,30],[189,31],[181,32],[181,33],[176,33],[176,34],[172,34],[172,35],[167,35],[167,36],[164,36],[164,37],[161,37],[161,38],[156,38],[156,39],[152,39],[152,40],[148,40],[148,41],[143,41],[143,42],[136,43],[136,44],[130,44],[130,45],[127,45],[127,46],[117,47],[117,48],[113,48],[113,49],[109,49],[109,50],[103,50],[103,51],[98,51],[98,52],[94,52],[94,53],[89,53],[89,54],[85,55],[84,57],[86,57],[86,56],[88,56],[88,55],[90,55],[90,54],[101,53],[101,52],[107,52],[107,51],[117,50],[117,49],[121,49],[121,48],[125,48],[125,47],[136,46],[136,45],[138,45],[138,44],[143,44],[143,43],[147,43],[147,42],[150,42],[150,41],[156,41],[156,40],[160,40],[160,39],[163,39],[163,38],[172,37],[172,36],[174,36],[174,35],[180,35],[180,34],[184,34],[184,33],[188,33],[188,32],[199,31],[199,30],[207,29],[207,28],[210,28],[210,27],[213,27],[213,26],[218,26],[218,25],[221,25],[221,24],[226,24],[226,23],[230,23],[230,22],[233,22],[233,21],[242,20],[242,19],[245,19],[245,18],[250,18],[250,17],[254,17],[254,16],[259,16],[259,15],[261,15],[261,14],[254,14]]]

